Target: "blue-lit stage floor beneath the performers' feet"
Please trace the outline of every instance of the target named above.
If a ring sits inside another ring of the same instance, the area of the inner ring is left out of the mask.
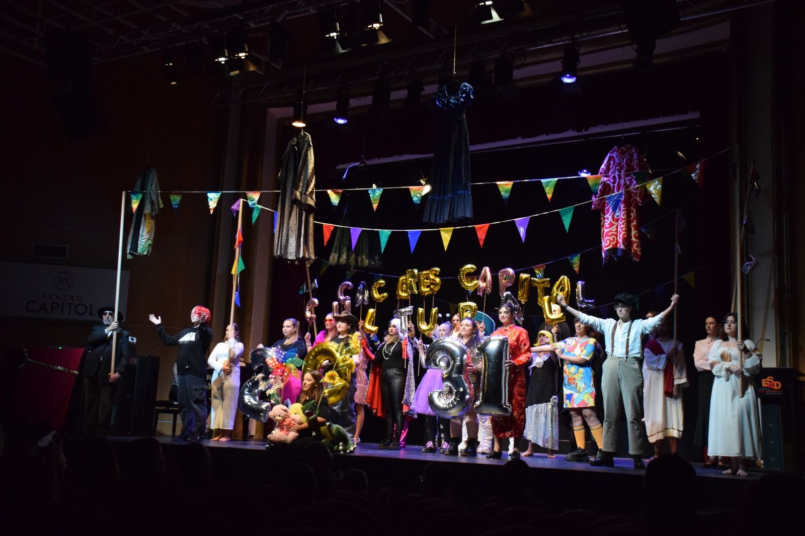
[[[110,438],[115,441],[131,441],[133,437],[115,437]],[[156,439],[163,445],[182,445],[185,443],[174,442],[170,436],[157,435]],[[214,451],[265,451],[266,443],[256,439],[247,440],[232,440],[232,441],[209,441],[205,439],[202,441],[204,445],[213,449]],[[509,460],[506,452],[500,460],[488,460],[486,456],[445,456],[439,453],[421,452],[419,445],[411,445],[407,448],[398,451],[383,450],[378,448],[378,443],[360,443],[352,454],[336,455],[337,458],[369,458],[376,461],[378,459],[394,460],[394,461],[411,461],[427,464],[431,461],[442,461],[446,464],[462,464],[462,465],[479,465],[479,466],[501,466]],[[603,474],[617,474],[617,475],[631,475],[642,476],[645,472],[642,469],[634,469],[632,460],[630,458],[615,458],[614,468],[605,467],[592,467],[589,464],[572,463],[564,460],[564,454],[557,455],[555,458],[548,458],[546,454],[535,453],[534,456],[521,457],[531,468],[536,469],[549,469],[551,471],[572,471],[572,472],[586,472],[586,473],[603,473]],[[357,460],[356,460],[357,461]],[[702,468],[702,464],[691,464],[696,469],[696,475],[704,479],[718,479],[718,480],[758,480],[768,472],[774,472],[768,469],[753,469],[749,471],[748,476],[734,476],[724,475],[720,470]]]

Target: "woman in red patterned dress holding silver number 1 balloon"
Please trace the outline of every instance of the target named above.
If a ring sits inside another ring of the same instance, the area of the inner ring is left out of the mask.
[[[531,360],[528,332],[514,325],[514,304],[506,302],[497,311],[502,328],[495,330],[492,336],[505,336],[509,339],[509,356],[506,359],[506,370],[509,373],[509,393],[511,398],[511,414],[495,415],[492,418],[492,431],[495,435],[493,451],[487,458],[500,458],[502,437],[514,438],[515,442],[522,438],[526,427],[526,363]],[[518,447],[514,447],[514,459],[520,457]]]

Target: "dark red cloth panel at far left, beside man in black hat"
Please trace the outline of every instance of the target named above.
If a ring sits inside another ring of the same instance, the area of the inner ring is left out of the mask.
[[[52,430],[61,430],[72,388],[79,377],[52,367],[77,371],[83,353],[84,348],[28,350],[14,387],[14,413]]]

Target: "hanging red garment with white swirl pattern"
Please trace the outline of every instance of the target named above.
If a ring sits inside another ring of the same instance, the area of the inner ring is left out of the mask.
[[[601,186],[592,196],[592,210],[601,210],[601,256],[631,257],[640,260],[640,225],[638,204],[643,202],[642,188],[632,174],[648,171],[638,148],[615,147],[601,164]]]

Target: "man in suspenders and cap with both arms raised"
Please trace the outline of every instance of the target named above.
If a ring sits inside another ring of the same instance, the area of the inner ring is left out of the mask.
[[[615,296],[615,312],[617,320],[600,319],[585,315],[568,307],[562,295],[559,295],[559,307],[573,316],[579,317],[582,324],[604,334],[607,358],[601,374],[601,394],[604,395],[604,448],[590,462],[591,465],[613,467],[613,456],[617,450],[617,423],[620,418],[620,404],[626,412],[629,424],[629,453],[634,460],[634,468],[646,466],[642,460],[642,427],[640,402],[643,396],[643,374],[641,362],[643,358],[642,336],[657,328],[665,316],[673,311],[679,295],[671,296],[671,305],[659,315],[646,320],[632,320],[630,315],[637,302],[634,295],[623,292]]]

